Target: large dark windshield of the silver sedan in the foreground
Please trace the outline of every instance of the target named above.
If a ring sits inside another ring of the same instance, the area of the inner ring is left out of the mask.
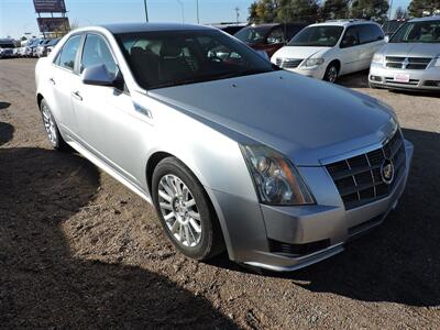
[[[276,70],[268,61],[220,31],[160,31],[116,35],[145,89]]]

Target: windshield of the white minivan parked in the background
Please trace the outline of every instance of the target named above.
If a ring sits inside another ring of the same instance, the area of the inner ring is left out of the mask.
[[[342,26],[310,26],[304,29],[297,35],[295,35],[289,46],[317,46],[317,47],[333,47],[343,31]]]

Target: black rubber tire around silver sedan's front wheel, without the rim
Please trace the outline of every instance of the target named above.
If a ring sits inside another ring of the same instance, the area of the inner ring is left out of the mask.
[[[201,219],[201,239],[199,244],[194,248],[185,246],[179,241],[177,241],[170,230],[168,229],[160,206],[158,206],[158,185],[162,177],[167,174],[173,174],[177,176],[185,185],[189,188],[193,197],[196,200],[197,209]],[[212,254],[213,249],[213,217],[209,208],[209,202],[207,200],[206,193],[201,184],[195,177],[195,175],[187,168],[182,162],[175,157],[168,157],[163,160],[154,169],[153,183],[152,183],[152,197],[153,202],[156,208],[157,217],[161,220],[162,227],[166,235],[173,242],[177,250],[183,254],[195,258],[195,260],[206,260]]]

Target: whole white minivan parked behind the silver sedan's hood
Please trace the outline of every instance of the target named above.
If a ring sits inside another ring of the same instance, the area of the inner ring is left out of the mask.
[[[384,32],[374,22],[329,21],[304,29],[272,56],[272,62],[334,82],[342,75],[367,69],[374,52],[384,44]]]

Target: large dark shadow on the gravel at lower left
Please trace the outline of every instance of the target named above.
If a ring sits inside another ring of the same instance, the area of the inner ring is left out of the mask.
[[[0,160],[1,328],[235,328],[165,276],[73,255],[63,226],[96,198],[91,163],[37,147],[0,147]]]

